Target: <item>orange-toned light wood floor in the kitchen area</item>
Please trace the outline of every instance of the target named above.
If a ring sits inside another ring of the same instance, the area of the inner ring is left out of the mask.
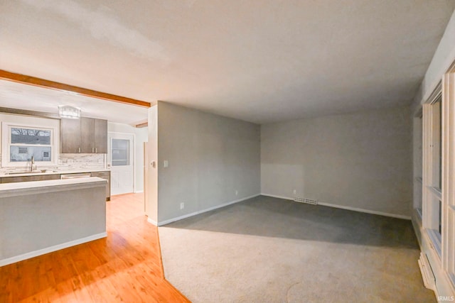
[[[107,238],[0,268],[0,302],[189,302],[164,279],[142,194],[107,202]]]

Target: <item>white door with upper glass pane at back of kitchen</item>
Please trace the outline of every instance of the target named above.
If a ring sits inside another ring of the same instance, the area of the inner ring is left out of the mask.
[[[134,192],[134,134],[109,133],[111,194]]]

